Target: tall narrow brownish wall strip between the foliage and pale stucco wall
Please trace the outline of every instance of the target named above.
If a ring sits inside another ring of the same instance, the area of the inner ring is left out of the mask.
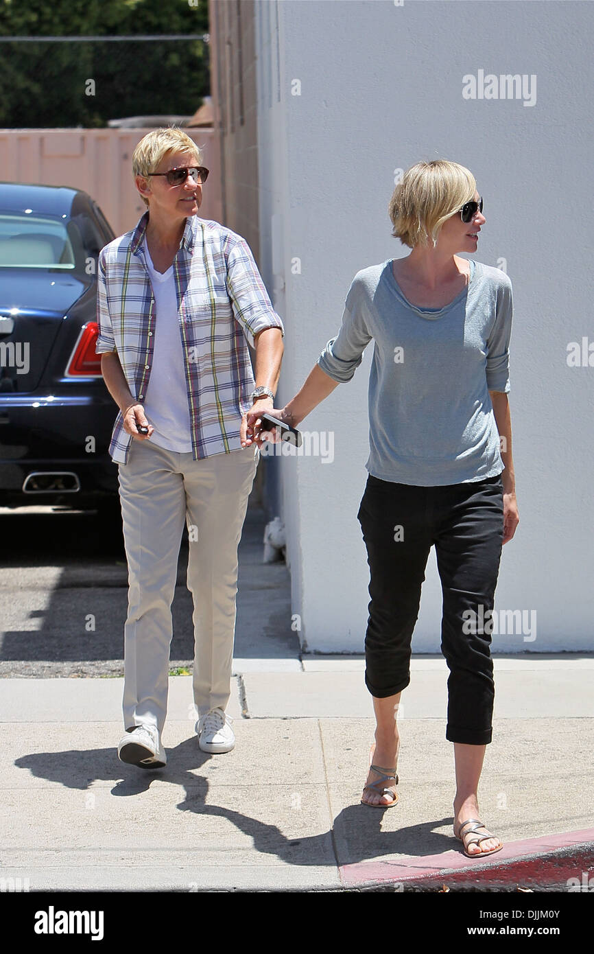
[[[211,95],[221,150],[223,224],[259,262],[253,0],[209,0]]]

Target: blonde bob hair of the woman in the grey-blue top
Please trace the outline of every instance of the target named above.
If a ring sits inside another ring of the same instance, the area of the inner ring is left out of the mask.
[[[475,197],[477,183],[458,162],[433,159],[407,169],[392,194],[392,235],[403,245],[435,248],[443,222]]]

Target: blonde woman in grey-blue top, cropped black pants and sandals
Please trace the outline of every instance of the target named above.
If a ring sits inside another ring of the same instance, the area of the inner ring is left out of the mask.
[[[450,670],[446,738],[454,743],[454,835],[469,858],[502,841],[479,817],[478,786],[492,739],[492,612],[502,544],[519,522],[511,448],[512,289],[476,252],[482,198],[468,169],[434,160],[411,167],[389,205],[393,235],[411,249],[358,272],[338,335],[297,395],[270,413],[298,425],[374,341],[370,455],[358,520],[370,568],[365,682],[377,720],[361,802],[397,804],[400,694],[435,546],[443,592],[441,650]],[[261,442],[257,413],[246,443]],[[395,533],[395,528],[401,531]]]

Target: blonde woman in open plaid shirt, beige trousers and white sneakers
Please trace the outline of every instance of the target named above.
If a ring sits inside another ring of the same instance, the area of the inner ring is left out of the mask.
[[[258,457],[245,446],[246,414],[274,405],[284,331],[245,240],[197,216],[208,170],[193,140],[179,129],[145,135],[133,175],[147,212],[99,256],[96,351],[119,407],[110,453],[129,569],[118,756],[154,769],[167,761],[161,735],[184,521],[193,529],[198,744],[210,753],[235,745],[225,708],[237,545]]]

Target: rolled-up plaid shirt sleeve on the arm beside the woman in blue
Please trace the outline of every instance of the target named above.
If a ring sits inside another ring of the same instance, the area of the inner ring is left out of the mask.
[[[278,328],[284,336],[280,317],[272,306],[245,239],[238,239],[227,255],[227,290],[236,321],[249,344],[266,328]]]

